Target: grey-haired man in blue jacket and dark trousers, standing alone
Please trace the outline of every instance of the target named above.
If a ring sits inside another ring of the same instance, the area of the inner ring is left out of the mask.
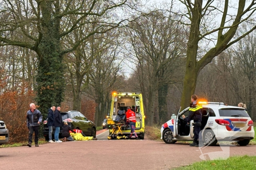
[[[39,133],[39,126],[40,123],[42,122],[43,116],[41,112],[37,109],[35,109],[35,104],[30,103],[30,110],[27,111],[27,128],[29,129],[29,143],[27,146],[31,147],[32,143],[32,136],[33,133],[35,132],[35,146],[38,145],[38,133]]]

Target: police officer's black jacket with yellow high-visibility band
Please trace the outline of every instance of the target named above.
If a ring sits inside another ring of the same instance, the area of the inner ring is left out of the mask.
[[[189,107],[189,115],[187,118],[187,122],[190,122],[190,120],[194,120],[194,122],[202,122],[202,113],[203,113],[203,107],[200,104],[192,104]]]

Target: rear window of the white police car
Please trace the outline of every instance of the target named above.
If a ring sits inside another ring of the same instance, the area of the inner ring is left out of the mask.
[[[219,109],[219,116],[250,117],[245,110],[238,108]]]

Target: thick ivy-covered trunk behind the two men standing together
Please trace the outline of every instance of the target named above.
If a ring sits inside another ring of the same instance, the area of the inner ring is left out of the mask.
[[[64,95],[64,65],[63,55],[61,54],[58,17],[52,17],[50,9],[51,2],[42,2],[42,25],[41,41],[38,49],[38,69],[36,76],[37,103],[40,104],[39,110],[46,118],[48,108],[60,106]],[[56,3],[56,13],[58,7]]]

